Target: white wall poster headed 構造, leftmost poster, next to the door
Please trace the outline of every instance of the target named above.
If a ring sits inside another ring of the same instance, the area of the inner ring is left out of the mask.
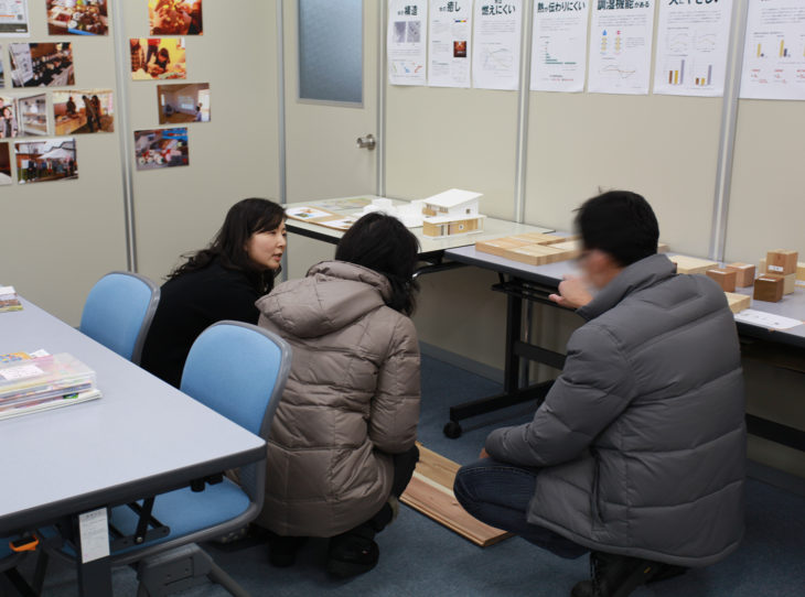
[[[388,0],[388,82],[425,85],[427,78],[427,0]]]

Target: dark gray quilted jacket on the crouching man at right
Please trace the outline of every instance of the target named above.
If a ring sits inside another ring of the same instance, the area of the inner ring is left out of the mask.
[[[721,290],[665,256],[624,269],[578,313],[534,420],[498,460],[545,467],[528,521],[592,550],[705,566],[743,535],[744,398]]]

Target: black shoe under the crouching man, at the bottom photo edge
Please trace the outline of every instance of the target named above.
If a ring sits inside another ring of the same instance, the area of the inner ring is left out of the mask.
[[[590,580],[577,583],[572,597],[626,597],[651,580],[664,564],[601,552],[590,553]]]

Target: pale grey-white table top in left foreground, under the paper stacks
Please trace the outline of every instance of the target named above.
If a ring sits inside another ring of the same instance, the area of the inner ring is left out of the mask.
[[[0,421],[0,536],[257,462],[265,441],[43,310],[0,313],[0,354],[69,352],[103,398]]]

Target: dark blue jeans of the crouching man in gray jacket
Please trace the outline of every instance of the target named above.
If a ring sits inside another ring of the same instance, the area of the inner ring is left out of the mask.
[[[464,510],[481,522],[515,533],[560,557],[581,557],[587,547],[528,522],[528,502],[538,474],[538,468],[484,458],[459,469],[453,492]]]

